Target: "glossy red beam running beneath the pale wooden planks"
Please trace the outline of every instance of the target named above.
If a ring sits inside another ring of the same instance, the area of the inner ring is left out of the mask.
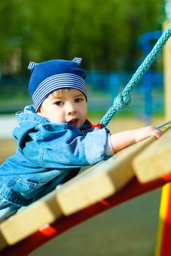
[[[28,236],[23,241],[18,242],[18,244],[8,246],[6,249],[0,252],[0,255],[18,256],[18,253],[20,253],[22,256],[28,256],[39,246],[42,246],[43,244],[47,243],[47,241],[50,241],[50,239],[61,235],[61,233],[66,232],[70,228],[79,225],[81,222],[107,211],[112,207],[118,206],[121,203],[125,203],[127,200],[131,200],[132,198],[143,195],[153,189],[162,187],[164,184],[170,181],[171,176],[170,178],[167,177],[167,180],[161,178],[148,182],[147,184],[140,184],[140,182],[137,181],[137,178],[134,177],[132,181],[126,185],[126,187],[123,187],[123,189],[121,189],[115,195],[112,195],[105,200],[101,200],[95,203],[93,206],[89,206],[88,208],[78,211],[77,213],[68,217],[61,217],[52,225],[45,225],[40,230],[37,230],[37,232],[33,235]]]

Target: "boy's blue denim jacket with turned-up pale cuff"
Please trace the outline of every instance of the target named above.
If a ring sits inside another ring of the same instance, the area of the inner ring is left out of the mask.
[[[28,206],[77,175],[80,167],[107,159],[109,130],[52,123],[34,106],[16,113],[18,148],[0,166],[0,205]]]

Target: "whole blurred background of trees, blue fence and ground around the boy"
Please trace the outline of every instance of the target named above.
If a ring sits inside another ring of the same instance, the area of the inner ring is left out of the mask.
[[[99,121],[161,36],[170,0],[0,1],[0,162],[15,151],[15,112],[31,104],[29,61],[83,58],[88,115]],[[162,53],[113,131],[164,119]],[[33,255],[153,255],[160,189],[56,238]]]

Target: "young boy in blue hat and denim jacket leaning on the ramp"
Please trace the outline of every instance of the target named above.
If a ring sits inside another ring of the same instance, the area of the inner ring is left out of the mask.
[[[81,59],[31,62],[34,105],[16,114],[18,148],[0,167],[0,221],[77,175],[81,167],[161,131],[144,127],[117,134],[93,129],[87,116],[86,72]]]

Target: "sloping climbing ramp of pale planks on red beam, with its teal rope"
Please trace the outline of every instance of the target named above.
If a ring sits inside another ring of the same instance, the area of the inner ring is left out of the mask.
[[[171,26],[161,35],[123,93],[116,97],[113,106],[100,121],[99,127],[106,126],[118,110],[130,103],[132,89],[156,59],[170,35]],[[58,236],[83,220],[169,183],[171,181],[170,128],[169,121],[162,126],[164,135],[159,140],[152,137],[134,143],[110,159],[88,168],[41,200],[1,222],[0,255],[15,256],[18,255],[19,249],[20,255],[28,255],[50,238]],[[167,255],[171,255],[171,251],[168,251]]]

